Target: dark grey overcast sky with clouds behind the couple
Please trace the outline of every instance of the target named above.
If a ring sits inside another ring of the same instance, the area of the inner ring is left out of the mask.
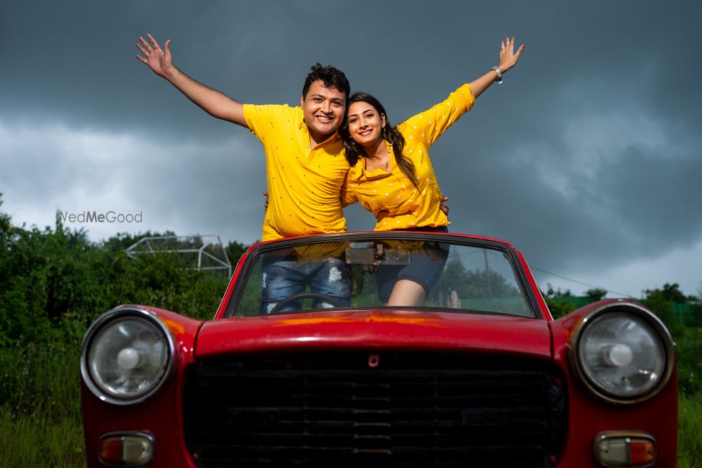
[[[297,105],[315,62],[392,123],[527,48],[432,147],[452,232],[505,239],[539,285],[702,289],[699,1],[84,1],[0,4],[0,210],[15,225],[260,239],[263,149],[138,62],[147,32],[241,102]],[[695,130],[697,129],[697,130]],[[362,208],[351,230],[372,229]]]

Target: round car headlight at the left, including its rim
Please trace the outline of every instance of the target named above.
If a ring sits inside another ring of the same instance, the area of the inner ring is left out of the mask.
[[[113,309],[88,328],[81,375],[98,398],[139,403],[157,392],[173,370],[171,333],[157,316],[135,307]]]

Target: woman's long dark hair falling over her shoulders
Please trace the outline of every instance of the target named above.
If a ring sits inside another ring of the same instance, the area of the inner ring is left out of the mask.
[[[397,167],[399,167],[399,170],[402,171],[406,178],[411,180],[414,187],[419,189],[419,180],[417,178],[417,171],[414,168],[414,163],[411,159],[409,159],[409,157],[402,154],[402,150],[404,149],[404,137],[402,136],[402,133],[399,133],[399,131],[397,131],[397,127],[390,125],[390,119],[388,119],[388,113],[385,112],[385,107],[383,107],[383,105],[380,104],[380,101],[372,95],[370,95],[369,93],[357,92],[353,93],[348,99],[346,105],[347,111],[348,109],[350,109],[351,105],[354,102],[366,102],[371,106],[375,107],[376,112],[378,112],[379,115],[382,114],[385,116],[383,138],[385,139],[385,141],[390,142],[390,145],[392,145],[392,152],[395,153],[395,163],[397,163]],[[349,133],[348,128],[348,119],[346,121],[345,126],[341,128],[340,133],[344,139],[344,146],[346,148],[346,161],[348,161],[350,166],[353,167],[358,162],[360,156],[368,155],[364,151],[363,147],[357,142],[355,142],[353,138],[351,138],[351,134]]]

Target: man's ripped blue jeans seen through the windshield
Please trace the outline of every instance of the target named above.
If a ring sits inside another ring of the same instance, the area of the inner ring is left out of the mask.
[[[351,269],[343,260],[329,258],[317,262],[299,263],[296,260],[270,258],[263,261],[261,315],[270,314],[279,302],[304,293],[328,296],[336,302],[313,297],[312,308],[348,307],[351,305]],[[290,300],[276,312],[300,310],[303,299]]]

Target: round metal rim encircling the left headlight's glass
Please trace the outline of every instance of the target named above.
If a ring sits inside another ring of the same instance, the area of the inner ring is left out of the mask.
[[[166,345],[168,346],[168,353],[170,354],[170,356],[167,359],[167,367],[161,377],[161,380],[156,385],[154,385],[154,387],[152,387],[150,390],[139,396],[135,396],[133,398],[119,399],[102,391],[102,389],[100,389],[100,387],[94,382],[88,364],[88,350],[93,342],[93,339],[95,338],[95,335],[97,335],[98,332],[102,330],[102,328],[104,328],[107,324],[114,320],[129,316],[144,319],[145,321],[149,321],[154,326],[156,326],[166,339]],[[171,335],[171,331],[168,330],[166,324],[163,321],[161,321],[161,319],[159,319],[159,316],[141,307],[119,306],[102,314],[100,317],[98,317],[97,320],[95,320],[91,324],[90,327],[88,327],[88,330],[86,331],[86,334],[83,337],[83,342],[81,343],[81,378],[85,383],[86,387],[88,387],[88,389],[91,391],[91,393],[97,396],[98,399],[100,399],[101,401],[112,403],[118,406],[135,405],[138,403],[142,403],[143,401],[149,399],[151,396],[159,392],[161,387],[163,387],[164,384],[168,382],[168,380],[170,380],[170,377],[175,372],[178,363],[176,357],[176,342],[173,339],[173,335]]]

